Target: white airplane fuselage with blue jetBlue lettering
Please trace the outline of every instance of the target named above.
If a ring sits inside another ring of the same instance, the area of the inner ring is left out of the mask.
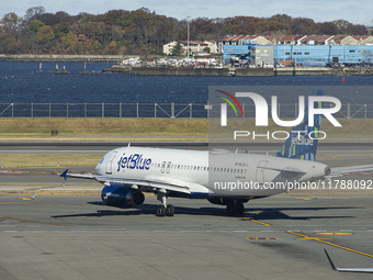
[[[95,173],[185,186],[191,197],[250,198],[284,192],[289,182],[315,181],[327,168],[320,163],[265,155],[124,147],[109,152]]]

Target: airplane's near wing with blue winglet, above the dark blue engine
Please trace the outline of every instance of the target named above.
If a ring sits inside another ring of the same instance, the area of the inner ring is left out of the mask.
[[[197,190],[201,192],[207,191],[207,189],[201,184],[187,182],[187,181],[178,181],[171,180],[169,178],[162,178],[157,176],[145,177],[144,179],[131,179],[131,178],[121,178],[121,177],[112,177],[112,176],[100,176],[100,175],[91,175],[91,173],[69,173],[68,170],[60,173],[60,177],[66,178],[81,178],[81,179],[91,179],[97,180],[101,183],[114,183],[120,186],[138,186],[138,187],[148,187],[151,189],[165,189],[168,191],[177,191],[182,193],[191,194],[193,190]]]

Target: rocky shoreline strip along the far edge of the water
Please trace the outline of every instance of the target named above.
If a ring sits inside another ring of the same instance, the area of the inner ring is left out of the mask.
[[[120,65],[131,55],[4,55],[0,61],[71,61],[113,63],[103,72],[122,72],[133,76],[200,76],[200,77],[276,77],[276,76],[373,76],[366,67],[286,67],[286,68],[194,68],[194,67],[128,67]]]

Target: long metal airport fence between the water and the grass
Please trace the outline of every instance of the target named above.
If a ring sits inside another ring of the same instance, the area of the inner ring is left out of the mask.
[[[242,103],[245,116],[255,105]],[[296,117],[295,104],[278,104],[281,117]],[[0,103],[0,117],[210,117],[207,103]],[[338,119],[373,119],[373,104],[342,104]]]

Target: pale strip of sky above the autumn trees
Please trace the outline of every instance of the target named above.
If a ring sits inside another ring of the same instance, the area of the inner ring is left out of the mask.
[[[9,12],[23,16],[29,8],[36,5],[43,5],[47,12],[65,11],[71,15],[80,12],[99,14],[118,9],[132,11],[145,7],[157,14],[179,20],[188,16],[269,18],[276,13],[286,13],[293,18],[310,18],[316,22],[343,19],[354,24],[373,24],[372,0],[1,0],[0,18]]]

